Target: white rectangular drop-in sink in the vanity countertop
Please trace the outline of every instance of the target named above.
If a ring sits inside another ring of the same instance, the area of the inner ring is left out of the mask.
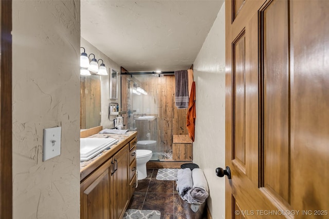
[[[80,138],[80,161],[90,160],[117,142],[114,138]]]

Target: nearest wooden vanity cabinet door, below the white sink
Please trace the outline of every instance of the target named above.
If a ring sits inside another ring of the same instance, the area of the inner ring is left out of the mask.
[[[81,219],[112,218],[111,161],[90,174],[80,186]]]

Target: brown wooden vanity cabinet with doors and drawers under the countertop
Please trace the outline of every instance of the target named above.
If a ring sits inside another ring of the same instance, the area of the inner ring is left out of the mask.
[[[124,144],[81,181],[81,219],[123,217],[136,187],[136,137]]]

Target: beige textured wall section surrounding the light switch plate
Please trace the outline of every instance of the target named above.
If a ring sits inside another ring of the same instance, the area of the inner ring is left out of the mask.
[[[80,2],[12,2],[13,218],[80,217]],[[43,129],[62,127],[42,161]]]

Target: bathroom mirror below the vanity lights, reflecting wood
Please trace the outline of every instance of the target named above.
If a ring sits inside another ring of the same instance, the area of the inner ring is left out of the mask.
[[[80,75],[80,129],[101,124],[101,79],[99,75]]]

